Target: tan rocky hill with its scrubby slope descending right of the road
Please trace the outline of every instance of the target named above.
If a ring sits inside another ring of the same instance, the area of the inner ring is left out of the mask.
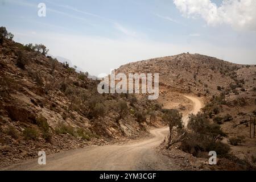
[[[214,57],[182,53],[129,63],[117,71],[159,73],[158,102],[168,109],[184,113],[191,106],[183,94],[201,97],[205,105],[201,110],[203,118],[221,127],[226,135],[221,142],[230,147],[229,156],[233,156],[228,163],[226,159],[221,160],[221,167],[215,169],[255,168],[256,138],[253,138],[253,128],[250,138],[249,127],[250,120],[254,126],[256,115],[256,65],[238,65]],[[208,156],[207,152],[204,155]]]

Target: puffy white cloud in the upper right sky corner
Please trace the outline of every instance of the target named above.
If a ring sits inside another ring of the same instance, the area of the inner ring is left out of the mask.
[[[174,0],[187,18],[203,18],[208,26],[229,24],[236,30],[256,31],[255,0],[224,0],[218,7],[210,0]]]

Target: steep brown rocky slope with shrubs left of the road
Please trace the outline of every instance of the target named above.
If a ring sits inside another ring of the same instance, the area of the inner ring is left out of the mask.
[[[147,126],[161,125],[156,102],[98,94],[98,81],[46,52],[43,45],[7,38],[0,44],[0,166],[40,150],[48,154],[142,137]]]

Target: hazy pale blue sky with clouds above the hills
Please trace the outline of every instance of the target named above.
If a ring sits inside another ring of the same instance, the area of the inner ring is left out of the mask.
[[[92,75],[182,52],[256,64],[255,0],[0,0],[0,26]]]

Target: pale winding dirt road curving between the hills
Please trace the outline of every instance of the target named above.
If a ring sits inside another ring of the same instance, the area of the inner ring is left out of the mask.
[[[197,113],[201,102],[196,97],[185,96],[193,102]],[[183,118],[187,122],[187,115]],[[46,165],[40,166],[37,159],[7,168],[7,170],[179,170],[167,156],[156,153],[158,146],[168,135],[168,127],[152,129],[153,137],[122,146],[90,146],[78,150],[47,155]]]

